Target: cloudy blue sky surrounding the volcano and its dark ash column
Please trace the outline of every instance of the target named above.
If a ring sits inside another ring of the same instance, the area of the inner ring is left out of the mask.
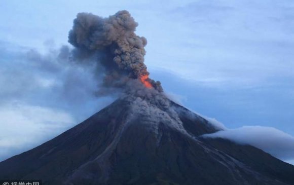
[[[145,64],[170,98],[223,123],[226,130],[218,136],[294,164],[290,0],[3,0],[0,161],[57,136],[114,100],[93,96],[91,68],[58,63],[55,56],[69,45],[77,13],[107,17],[119,10],[128,10],[139,23],[136,34],[148,40]]]

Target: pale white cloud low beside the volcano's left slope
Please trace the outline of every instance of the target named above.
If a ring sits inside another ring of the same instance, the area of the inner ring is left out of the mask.
[[[0,107],[0,161],[68,129],[76,120],[59,109],[10,102]]]

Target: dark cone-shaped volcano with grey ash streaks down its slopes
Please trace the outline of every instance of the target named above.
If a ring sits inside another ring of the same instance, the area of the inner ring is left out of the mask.
[[[0,179],[44,184],[294,184],[294,166],[161,96],[125,95],[79,125],[0,163]]]

